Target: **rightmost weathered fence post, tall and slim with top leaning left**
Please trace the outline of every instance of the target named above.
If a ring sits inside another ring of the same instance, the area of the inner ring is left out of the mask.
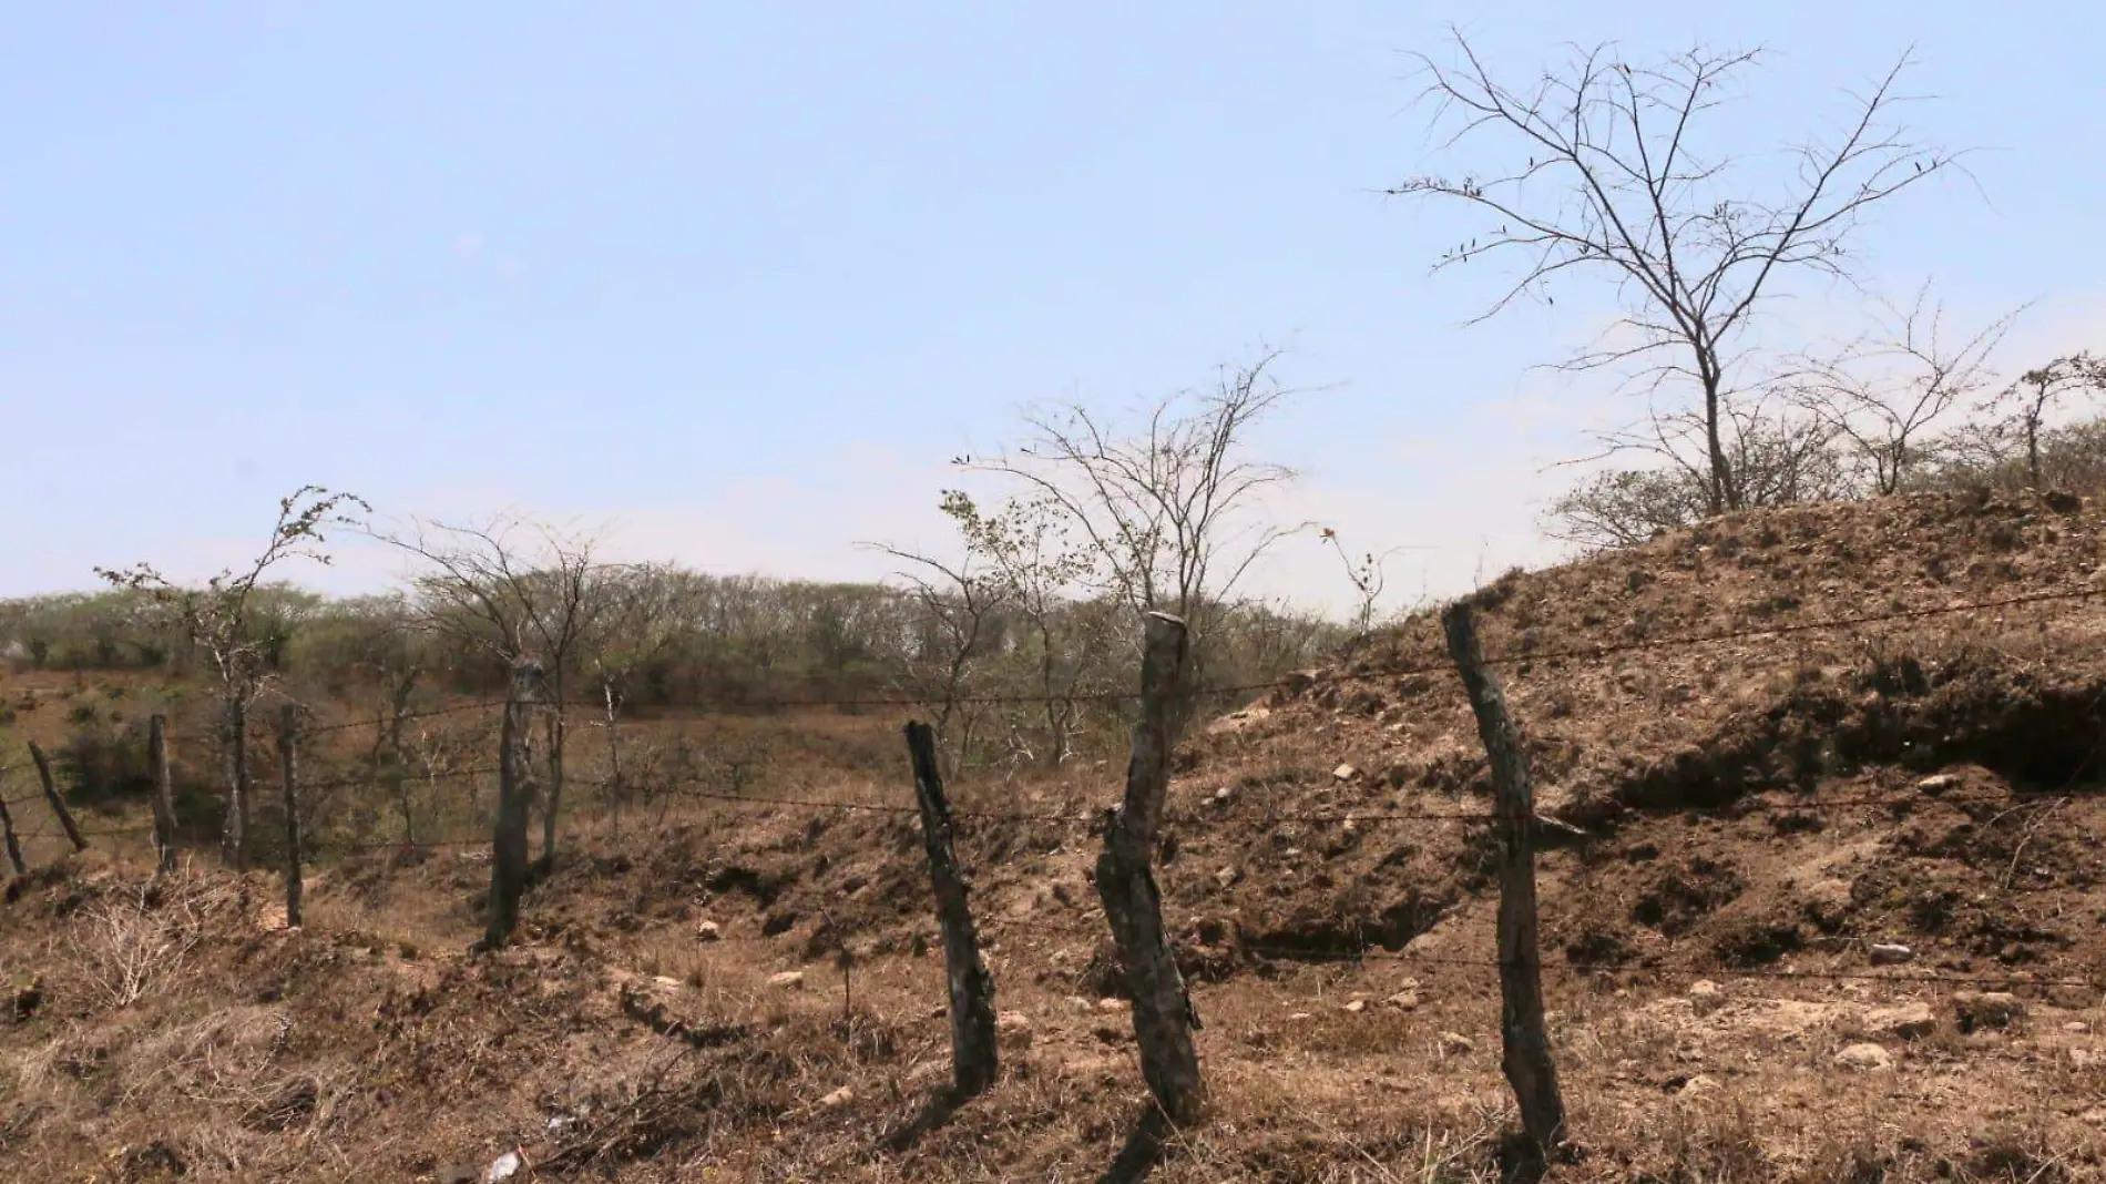
[[[1565,1142],[1565,1098],[1558,1093],[1558,1070],[1550,1060],[1550,1032],[1544,1028],[1544,967],[1535,940],[1535,788],[1529,784],[1529,758],[1521,750],[1521,733],[1506,710],[1499,678],[1485,664],[1476,640],[1476,619],[1468,600],[1441,613],[1449,655],[1462,674],[1476,733],[1491,758],[1491,782],[1497,792],[1493,826],[1499,836],[1499,1037],[1504,1055],[1499,1068],[1514,1100],[1521,1104],[1521,1125],[1535,1150],[1550,1157]]]

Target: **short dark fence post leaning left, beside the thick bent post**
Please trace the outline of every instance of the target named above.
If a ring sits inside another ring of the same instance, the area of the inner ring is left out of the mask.
[[[952,1093],[962,1102],[994,1085],[994,975],[979,959],[979,935],[973,931],[965,876],[958,872],[958,855],[950,841],[950,803],[943,798],[943,777],[937,773],[935,729],[910,723],[908,756],[914,763],[914,801],[920,803],[922,841],[929,847],[935,921],[943,929]]]

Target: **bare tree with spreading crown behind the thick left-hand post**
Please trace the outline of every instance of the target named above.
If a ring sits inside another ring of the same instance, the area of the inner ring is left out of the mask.
[[[533,657],[545,672],[552,704],[541,866],[554,866],[569,676],[604,607],[609,567],[594,556],[600,535],[499,516],[468,527],[411,520],[406,531],[375,537],[421,560],[413,586],[428,628],[486,651],[505,668]]]

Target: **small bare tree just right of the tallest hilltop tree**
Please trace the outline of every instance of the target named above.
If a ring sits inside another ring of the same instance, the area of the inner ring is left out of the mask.
[[[2018,318],[2018,312],[2007,314],[1954,341],[1944,312],[1925,284],[1906,310],[1889,301],[1874,329],[1794,364],[1790,398],[1849,442],[1870,472],[1872,493],[1898,493],[1927,459],[1925,436],[1988,386],[1988,356]]]

